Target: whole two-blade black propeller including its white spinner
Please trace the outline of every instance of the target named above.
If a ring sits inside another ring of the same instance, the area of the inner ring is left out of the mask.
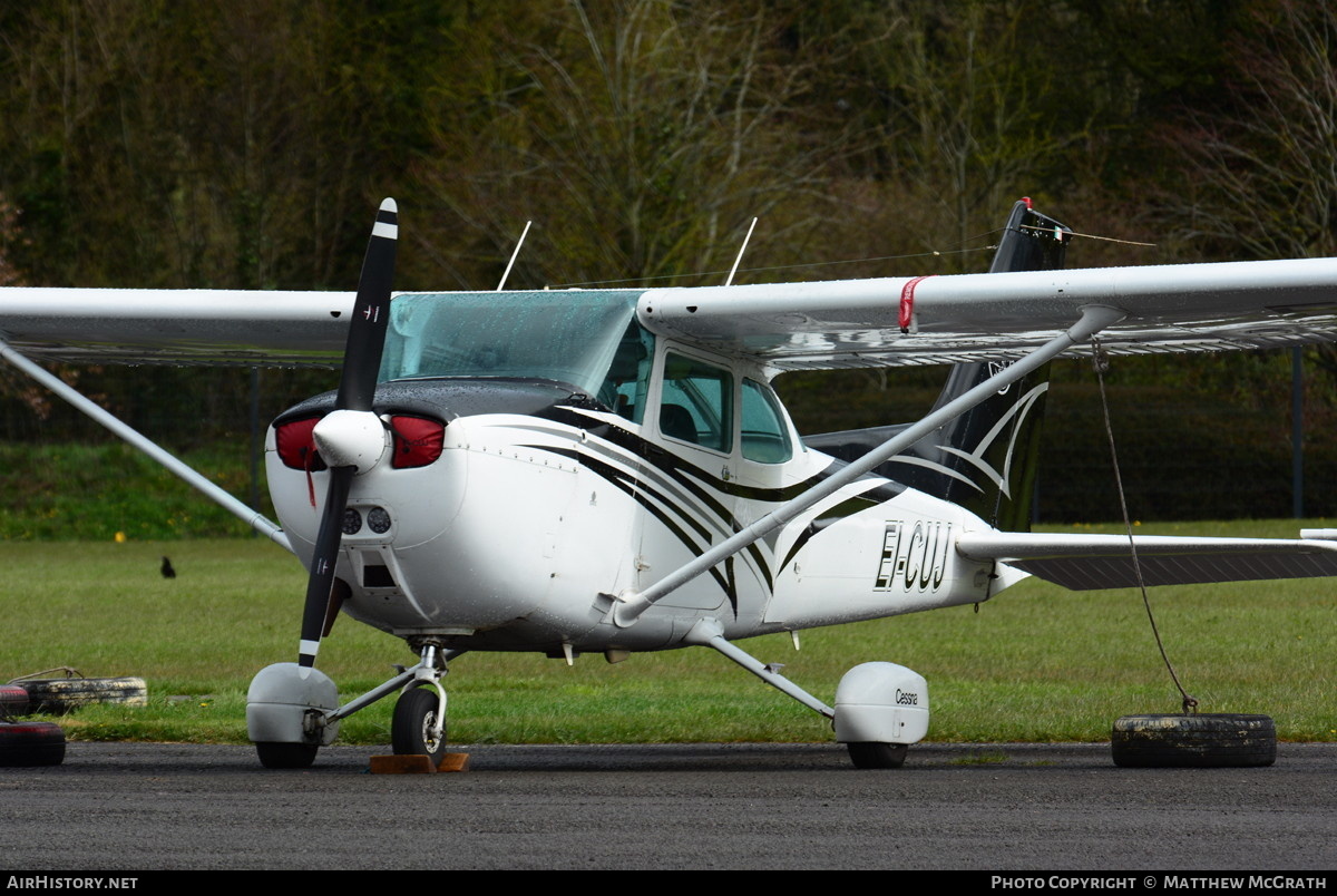
[[[321,420],[314,432],[316,447],[329,467],[329,488],[316,552],[312,555],[306,580],[306,604],[302,608],[302,638],[298,665],[314,666],[321,635],[329,615],[334,587],[334,564],[342,538],[344,510],[348,504],[353,475],[366,472],[380,459],[385,447],[385,429],[372,411],[376,378],[385,348],[385,328],[390,312],[390,281],[394,278],[394,249],[398,238],[398,210],[394,199],[381,202],[372,227],[372,239],[362,259],[362,274],[353,305],[353,321],[344,349],[344,373],[340,378],[334,411]]]

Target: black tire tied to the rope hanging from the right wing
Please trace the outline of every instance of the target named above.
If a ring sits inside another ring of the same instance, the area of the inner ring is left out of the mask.
[[[1255,768],[1277,760],[1277,726],[1270,715],[1238,713],[1123,715],[1110,750],[1122,768]]]

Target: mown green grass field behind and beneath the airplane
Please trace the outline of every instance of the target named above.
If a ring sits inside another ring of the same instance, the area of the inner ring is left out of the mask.
[[[1294,535],[1300,523],[1142,527],[1159,534]],[[1083,527],[1084,528],[1084,527]],[[1114,531],[1096,528],[1092,531]],[[158,572],[170,554],[176,579]],[[0,544],[0,681],[53,666],[142,675],[150,706],[88,707],[72,738],[245,742],[245,691],[293,658],[305,574],[259,539]],[[1171,659],[1202,711],[1267,713],[1284,740],[1337,740],[1337,583],[1154,588]],[[850,666],[886,659],[929,681],[935,741],[1100,741],[1128,713],[1177,711],[1136,591],[1025,582],[975,612],[939,610],[745,642],[822,699]],[[345,697],[412,663],[398,641],[340,619],[321,667]],[[574,667],[531,655],[452,665],[456,742],[822,741],[829,725],[706,649]],[[390,701],[344,722],[342,742],[389,742]]]

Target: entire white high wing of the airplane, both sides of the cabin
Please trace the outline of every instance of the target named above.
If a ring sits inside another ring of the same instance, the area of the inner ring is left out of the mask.
[[[11,288],[0,338],[41,360],[330,366],[352,305],[352,293]],[[651,289],[639,316],[660,334],[797,370],[1015,358],[1091,305],[1124,314],[1100,334],[1111,353],[1337,340],[1337,259]]]

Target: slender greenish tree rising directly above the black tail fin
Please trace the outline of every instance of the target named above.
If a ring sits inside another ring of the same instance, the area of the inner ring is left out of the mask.
[[[1084,138],[1092,112],[1059,106],[1060,63],[1035,51],[1056,27],[1054,5],[888,0],[848,8],[857,35],[845,41],[849,78],[872,99],[865,120],[880,116],[865,134],[865,151],[877,159],[869,174],[892,215],[913,210],[915,229],[896,234],[910,241],[904,249],[981,246],[977,237],[1020,195],[1055,189],[1050,175]]]

